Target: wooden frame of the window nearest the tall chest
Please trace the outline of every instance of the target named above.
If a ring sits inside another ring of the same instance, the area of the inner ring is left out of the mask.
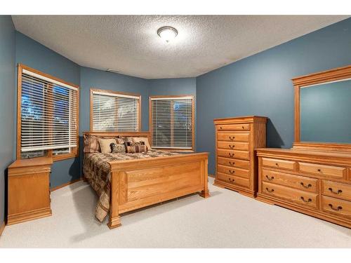
[[[174,148],[157,148],[153,146],[153,124],[152,124],[152,99],[154,98],[192,98],[192,149],[174,149]],[[154,149],[161,149],[162,151],[180,151],[180,152],[194,152],[195,151],[195,96],[194,95],[157,95],[149,97],[149,129],[151,134],[151,147]]]

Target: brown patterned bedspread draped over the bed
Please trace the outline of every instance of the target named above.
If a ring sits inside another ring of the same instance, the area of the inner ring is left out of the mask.
[[[98,204],[96,205],[95,217],[102,222],[107,213],[110,211],[110,189],[111,189],[111,174],[110,162],[126,161],[133,159],[147,159],[155,157],[173,156],[179,153],[170,151],[155,151],[149,150],[147,153],[140,154],[102,154],[91,153],[84,154],[83,173],[91,187],[99,196]]]

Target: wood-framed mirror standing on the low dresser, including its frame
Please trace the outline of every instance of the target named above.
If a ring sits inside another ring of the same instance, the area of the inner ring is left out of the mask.
[[[293,148],[351,151],[351,65],[292,81]]]

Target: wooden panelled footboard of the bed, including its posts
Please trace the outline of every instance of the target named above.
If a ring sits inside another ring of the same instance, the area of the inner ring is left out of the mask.
[[[121,225],[119,215],[147,205],[199,192],[207,188],[208,153],[112,162],[110,229]]]

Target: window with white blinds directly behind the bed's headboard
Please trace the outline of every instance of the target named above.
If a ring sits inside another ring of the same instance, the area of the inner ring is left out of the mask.
[[[140,95],[91,89],[91,130],[139,131]]]

